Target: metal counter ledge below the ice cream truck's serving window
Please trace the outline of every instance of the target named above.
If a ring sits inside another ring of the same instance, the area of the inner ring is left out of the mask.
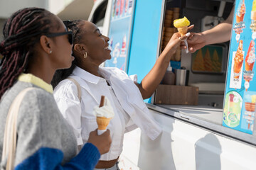
[[[150,103],[146,103],[146,106],[153,111],[164,113],[186,123],[256,147],[255,135],[226,128],[222,125],[223,109],[210,106],[153,105]]]

